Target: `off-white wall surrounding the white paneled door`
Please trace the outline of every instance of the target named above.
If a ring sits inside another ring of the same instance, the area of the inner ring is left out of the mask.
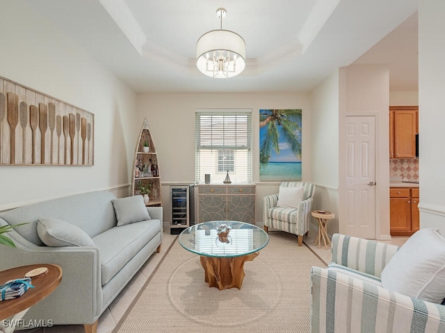
[[[375,115],[375,238],[389,234],[389,69],[386,65],[350,65],[340,69],[339,110],[339,231],[346,221],[346,116]]]

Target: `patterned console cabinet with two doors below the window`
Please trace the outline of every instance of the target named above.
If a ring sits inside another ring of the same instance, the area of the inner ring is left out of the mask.
[[[255,187],[248,185],[197,185],[197,221],[241,221],[255,224]]]

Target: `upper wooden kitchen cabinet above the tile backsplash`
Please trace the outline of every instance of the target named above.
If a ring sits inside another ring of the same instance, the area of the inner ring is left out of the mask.
[[[416,157],[417,106],[389,107],[389,158]]]

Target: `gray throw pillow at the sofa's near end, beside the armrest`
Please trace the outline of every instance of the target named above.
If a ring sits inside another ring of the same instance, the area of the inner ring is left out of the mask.
[[[81,228],[58,219],[38,219],[37,234],[46,246],[95,246]]]

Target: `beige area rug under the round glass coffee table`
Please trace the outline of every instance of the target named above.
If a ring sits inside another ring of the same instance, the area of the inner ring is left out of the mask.
[[[312,266],[325,266],[285,232],[245,262],[241,290],[210,288],[200,257],[170,248],[115,332],[309,332]]]

